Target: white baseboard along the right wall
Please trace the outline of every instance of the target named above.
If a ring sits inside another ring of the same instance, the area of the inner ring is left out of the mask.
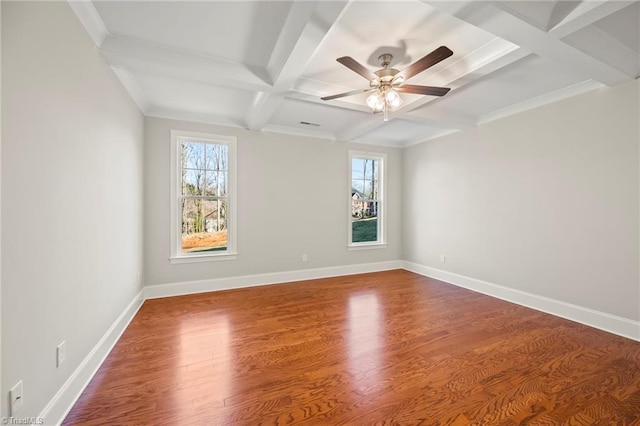
[[[560,300],[539,296],[533,293],[504,287],[487,281],[431,268],[413,262],[403,262],[407,271],[435,278],[458,287],[464,287],[478,293],[526,306],[557,317],[575,321],[609,333],[640,341],[640,322],[616,315],[607,314]]]

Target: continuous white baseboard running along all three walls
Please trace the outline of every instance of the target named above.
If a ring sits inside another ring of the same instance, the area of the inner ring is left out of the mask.
[[[426,277],[435,278],[478,293],[483,293],[640,341],[640,322],[401,260],[160,284],[146,286],[134,297],[96,346],[89,352],[78,368],[64,385],[62,385],[60,390],[58,390],[44,410],[42,410],[39,417],[44,419],[44,424],[47,425],[58,425],[62,423],[146,299],[380,272],[393,269],[406,269],[407,271],[415,272]]]

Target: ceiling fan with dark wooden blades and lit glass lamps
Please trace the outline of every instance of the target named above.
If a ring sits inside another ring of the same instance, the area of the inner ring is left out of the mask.
[[[440,46],[402,71],[389,68],[389,64],[391,64],[393,60],[393,55],[389,53],[383,53],[378,57],[382,69],[377,71],[370,71],[352,57],[343,56],[336,60],[369,80],[369,88],[338,93],[337,95],[325,96],[321,99],[323,101],[330,101],[359,93],[373,92],[367,98],[367,105],[374,113],[383,112],[384,121],[387,121],[389,119],[388,111],[393,111],[402,103],[398,92],[431,96],[444,96],[447,94],[450,90],[448,87],[418,86],[415,84],[404,84],[404,82],[451,55],[453,55],[453,52],[448,47]]]

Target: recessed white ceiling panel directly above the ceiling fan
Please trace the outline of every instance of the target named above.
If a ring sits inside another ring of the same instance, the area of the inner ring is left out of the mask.
[[[351,56],[371,70],[391,53],[390,67],[402,70],[441,45],[454,55],[412,79],[419,82],[464,58],[495,36],[421,2],[354,2],[318,47],[302,76],[311,80],[366,87],[367,80],[336,62]]]

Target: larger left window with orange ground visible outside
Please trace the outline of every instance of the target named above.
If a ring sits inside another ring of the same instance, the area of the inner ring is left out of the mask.
[[[173,130],[172,263],[236,254],[236,138]]]

